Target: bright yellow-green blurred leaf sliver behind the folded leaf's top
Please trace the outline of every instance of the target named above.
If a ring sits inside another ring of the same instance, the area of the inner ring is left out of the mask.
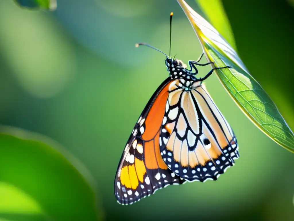
[[[213,4],[207,0],[196,0],[200,9],[204,12],[214,27],[218,27],[218,32],[236,49],[234,34],[230,26],[227,14],[223,8],[221,0],[214,0]]]

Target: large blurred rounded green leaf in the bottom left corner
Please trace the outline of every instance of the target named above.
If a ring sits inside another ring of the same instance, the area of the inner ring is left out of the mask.
[[[0,194],[5,193],[0,200],[1,218],[42,215],[38,220],[98,220],[95,193],[85,178],[91,178],[86,169],[49,138],[1,128]]]

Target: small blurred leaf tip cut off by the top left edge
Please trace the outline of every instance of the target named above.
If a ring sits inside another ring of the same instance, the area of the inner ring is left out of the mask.
[[[22,7],[31,9],[48,9],[51,11],[56,10],[56,0],[14,0]]]

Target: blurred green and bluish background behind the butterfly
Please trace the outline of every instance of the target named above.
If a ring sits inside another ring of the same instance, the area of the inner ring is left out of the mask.
[[[105,220],[294,220],[294,155],[246,118],[215,75],[206,86],[238,139],[235,166],[217,182],[171,186],[131,206],[116,202],[113,182],[128,136],[168,77],[161,53],[134,44],[168,52],[171,11],[172,55],[196,60],[201,46],[176,1],[61,0],[54,12],[1,1],[0,123],[49,136],[85,165]],[[199,68],[201,75],[209,70]],[[288,107],[285,100],[284,113],[293,115]],[[0,219],[7,218],[3,208]]]

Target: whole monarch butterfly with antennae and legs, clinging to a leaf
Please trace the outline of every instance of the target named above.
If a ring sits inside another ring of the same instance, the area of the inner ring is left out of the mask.
[[[161,50],[139,45],[163,53],[170,76],[148,101],[121,156],[114,183],[120,204],[133,204],[171,184],[216,180],[239,157],[235,134],[202,83],[213,70],[229,67],[197,78],[195,65],[212,63],[198,63],[203,53],[189,60],[188,70]]]

